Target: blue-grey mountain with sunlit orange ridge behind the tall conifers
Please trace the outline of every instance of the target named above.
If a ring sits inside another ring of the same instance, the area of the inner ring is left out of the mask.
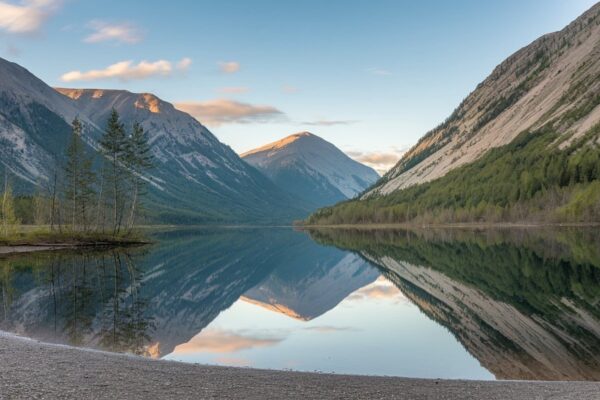
[[[144,127],[159,164],[153,171],[158,189],[153,198],[163,209],[170,204],[193,211],[201,219],[229,222],[289,222],[305,213],[291,196],[244,163],[196,119],[150,93],[56,90],[99,127],[113,108],[126,126],[138,121]],[[167,209],[164,214],[166,219],[177,218],[177,210]]]

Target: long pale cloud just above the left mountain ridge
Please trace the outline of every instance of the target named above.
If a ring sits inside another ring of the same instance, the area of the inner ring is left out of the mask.
[[[61,76],[63,82],[76,81],[96,81],[101,79],[119,79],[128,81],[134,79],[146,79],[155,76],[170,76],[176,71],[186,71],[191,65],[189,58],[184,58],[175,66],[166,60],[158,61],[140,61],[135,64],[133,61],[120,61],[109,65],[104,69],[93,69],[89,71],[70,71]]]

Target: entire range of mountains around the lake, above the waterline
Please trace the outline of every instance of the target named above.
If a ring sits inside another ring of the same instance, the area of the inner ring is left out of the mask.
[[[0,74],[2,179],[22,199],[47,190],[75,117],[100,168],[115,110],[156,160],[147,223],[600,220],[600,5],[508,57],[381,178],[310,132],[238,155],[153,94],[55,89],[4,59]]]

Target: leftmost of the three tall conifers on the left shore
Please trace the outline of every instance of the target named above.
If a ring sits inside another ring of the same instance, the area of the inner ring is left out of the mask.
[[[92,158],[85,153],[81,135],[83,126],[79,119],[73,120],[71,142],[67,147],[65,164],[65,198],[70,206],[71,226],[88,229],[88,214],[94,196],[95,174],[92,171]]]

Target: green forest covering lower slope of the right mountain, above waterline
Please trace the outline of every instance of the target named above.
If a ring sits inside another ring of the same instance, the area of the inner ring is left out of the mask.
[[[524,132],[442,178],[323,208],[306,222],[600,222],[600,124],[567,146],[559,138],[552,125]]]

